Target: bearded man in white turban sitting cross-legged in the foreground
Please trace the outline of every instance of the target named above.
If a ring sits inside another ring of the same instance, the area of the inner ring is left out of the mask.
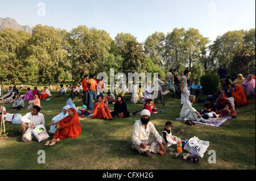
[[[150,115],[150,111],[142,110],[141,120],[134,123],[133,126],[133,145],[131,145],[131,148],[138,150],[139,153],[145,153],[147,157],[150,157],[151,152],[157,153],[159,149],[166,151],[162,144],[162,136],[150,122]],[[155,138],[149,137],[150,133],[154,134]]]

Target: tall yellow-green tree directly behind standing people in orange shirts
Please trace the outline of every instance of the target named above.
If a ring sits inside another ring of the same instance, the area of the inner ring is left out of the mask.
[[[73,79],[81,81],[84,74],[100,73],[100,65],[108,56],[112,41],[104,30],[86,26],[73,28],[69,36]]]

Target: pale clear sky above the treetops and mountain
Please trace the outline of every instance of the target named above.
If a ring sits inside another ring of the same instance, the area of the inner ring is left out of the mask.
[[[46,6],[45,16],[38,16],[39,2]],[[6,17],[30,27],[96,27],[113,39],[119,32],[129,32],[139,42],[155,31],[193,27],[214,40],[227,31],[255,28],[255,0],[0,0],[0,18]]]

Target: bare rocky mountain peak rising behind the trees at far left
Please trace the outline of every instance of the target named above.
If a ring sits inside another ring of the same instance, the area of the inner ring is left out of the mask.
[[[23,30],[28,33],[32,33],[30,26],[20,26],[15,19],[11,18],[0,18],[0,30],[3,28],[13,28],[14,30]]]

